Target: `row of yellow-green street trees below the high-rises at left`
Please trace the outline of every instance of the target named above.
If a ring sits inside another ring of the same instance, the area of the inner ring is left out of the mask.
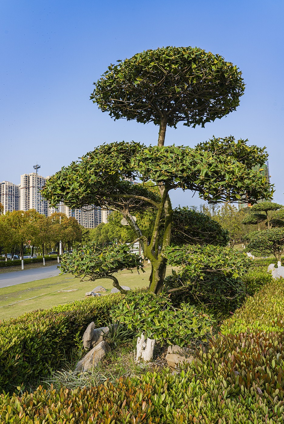
[[[23,257],[25,246],[31,246],[32,254],[34,246],[40,246],[43,255],[54,247],[59,251],[60,240],[63,248],[70,250],[72,243],[81,238],[82,227],[76,219],[61,212],[46,217],[30,209],[0,216],[0,252],[11,253],[12,257],[16,250]]]

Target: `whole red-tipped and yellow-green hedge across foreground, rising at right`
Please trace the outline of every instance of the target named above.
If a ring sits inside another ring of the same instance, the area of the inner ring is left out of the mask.
[[[3,394],[0,416],[6,422],[25,420],[30,424],[42,424],[43,420],[100,424],[281,424],[284,332],[282,325],[273,326],[273,321],[278,312],[283,317],[283,299],[282,280],[268,284],[258,295],[248,298],[240,310],[242,326],[236,325],[237,311],[223,325],[225,334],[212,338],[208,349],[197,349],[196,359],[180,375],[164,369],[91,388],[39,387],[33,394]],[[266,330],[273,328],[274,332],[260,332],[256,328],[252,307],[256,308],[257,317],[264,314]]]

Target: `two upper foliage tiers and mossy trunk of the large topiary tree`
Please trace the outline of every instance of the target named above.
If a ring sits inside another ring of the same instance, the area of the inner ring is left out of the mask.
[[[233,137],[213,138],[194,149],[164,146],[167,125],[175,127],[183,121],[186,126],[203,126],[238,106],[244,90],[241,73],[221,56],[191,47],[147,50],[111,65],[95,86],[93,101],[115,119],[159,125],[158,145],[98,146],[48,179],[42,194],[53,205],[59,201],[70,207],[95,204],[121,212],[152,263],[149,290],[160,293],[174,217],[170,190],[194,190],[212,203],[270,198],[265,176],[252,169],[264,163],[267,154]],[[159,194],[151,190],[149,181]],[[141,210],[155,214],[150,240],[132,218]],[[191,223],[183,220],[183,225],[189,233]]]

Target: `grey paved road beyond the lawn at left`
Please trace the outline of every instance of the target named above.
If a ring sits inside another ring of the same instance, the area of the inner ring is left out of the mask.
[[[45,266],[42,268],[27,269],[0,274],[0,288],[14,286],[16,284],[28,283],[34,280],[54,277],[59,275],[57,265]]]

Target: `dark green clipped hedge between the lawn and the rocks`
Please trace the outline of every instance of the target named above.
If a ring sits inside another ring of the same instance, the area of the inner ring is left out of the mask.
[[[108,322],[121,295],[87,298],[0,323],[0,391],[44,377],[70,360],[74,340],[91,321]]]

